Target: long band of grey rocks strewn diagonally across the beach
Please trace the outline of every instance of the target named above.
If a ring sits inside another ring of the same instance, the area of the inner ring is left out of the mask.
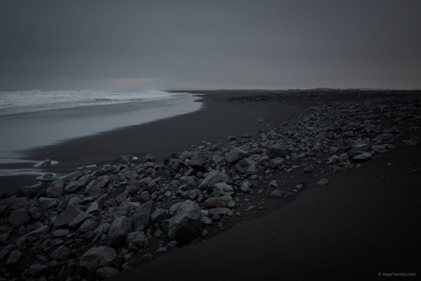
[[[134,255],[148,260],[203,239],[209,227],[222,229],[226,220],[257,209],[246,204],[253,196],[282,200],[304,190],[302,183],[286,190],[275,174],[300,171],[324,186],[329,180],[316,166],[349,170],[397,146],[418,146],[415,134],[396,143],[402,130],[395,125],[409,123],[409,132],[418,132],[418,99],[376,95],[313,106],[276,128],[263,123],[257,137],[192,146],[163,163],[153,155],[142,162],[121,155],[95,171],[46,175],[13,197],[0,197],[0,275],[107,278],[128,269]]]

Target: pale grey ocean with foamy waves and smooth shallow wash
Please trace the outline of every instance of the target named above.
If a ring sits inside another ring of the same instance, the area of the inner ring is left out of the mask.
[[[36,172],[14,168],[36,168],[24,151],[191,113],[202,106],[197,99],[155,90],[1,90],[0,176]]]

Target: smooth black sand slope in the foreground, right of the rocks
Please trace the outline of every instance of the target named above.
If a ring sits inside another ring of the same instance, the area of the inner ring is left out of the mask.
[[[110,280],[375,280],[420,274],[421,147],[400,148],[215,238]],[[393,162],[391,166],[386,163]],[[412,280],[412,278],[409,278]],[[415,278],[414,278],[415,280]]]

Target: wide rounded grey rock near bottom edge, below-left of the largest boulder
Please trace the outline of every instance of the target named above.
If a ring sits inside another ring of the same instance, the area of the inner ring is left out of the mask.
[[[117,258],[117,253],[109,246],[90,248],[81,256],[78,271],[81,275],[90,275],[97,267],[108,267],[115,258]]]

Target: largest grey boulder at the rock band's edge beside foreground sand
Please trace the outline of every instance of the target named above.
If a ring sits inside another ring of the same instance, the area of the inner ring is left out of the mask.
[[[169,220],[168,237],[178,242],[190,242],[197,238],[202,231],[201,216],[199,206],[191,200],[186,200]]]

